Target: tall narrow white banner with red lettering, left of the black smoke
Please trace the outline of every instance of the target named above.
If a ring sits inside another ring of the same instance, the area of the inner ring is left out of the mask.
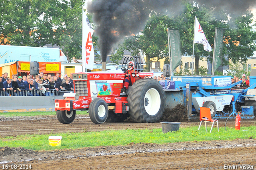
[[[93,69],[94,49],[92,44],[93,29],[83,9],[83,28],[82,28],[82,61],[84,67]]]

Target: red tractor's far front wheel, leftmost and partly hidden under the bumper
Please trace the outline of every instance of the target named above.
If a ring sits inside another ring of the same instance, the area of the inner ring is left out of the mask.
[[[60,123],[70,124],[76,117],[76,110],[73,111],[56,111],[57,119]]]

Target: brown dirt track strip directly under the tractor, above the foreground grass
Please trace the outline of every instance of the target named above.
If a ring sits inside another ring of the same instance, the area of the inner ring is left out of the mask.
[[[234,120],[229,120],[227,127],[234,127]],[[180,127],[199,125],[199,122],[182,122]],[[224,127],[225,121],[220,121],[219,126]],[[242,126],[255,126],[256,119],[242,120]],[[16,136],[20,134],[50,134],[59,132],[84,132],[101,131],[106,129],[150,129],[162,128],[161,123],[103,123],[96,125],[89,117],[77,115],[71,124],[60,123],[55,115],[38,117],[0,117],[0,136]]]

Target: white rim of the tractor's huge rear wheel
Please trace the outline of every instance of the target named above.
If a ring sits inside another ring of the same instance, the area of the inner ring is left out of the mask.
[[[161,106],[161,97],[156,89],[149,89],[144,96],[144,108],[148,115],[154,116]]]

